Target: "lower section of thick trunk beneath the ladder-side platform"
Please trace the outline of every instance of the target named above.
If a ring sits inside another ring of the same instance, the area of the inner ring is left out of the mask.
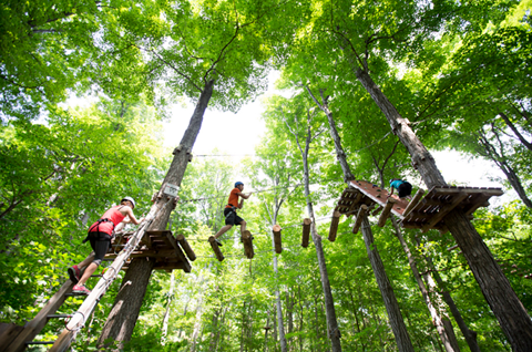
[[[123,342],[130,341],[154,265],[155,261],[145,258],[131,262],[98,339],[99,348],[108,350],[108,346],[117,341],[117,348],[122,349]]]

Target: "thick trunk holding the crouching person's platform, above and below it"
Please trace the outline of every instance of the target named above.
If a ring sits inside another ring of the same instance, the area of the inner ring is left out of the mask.
[[[409,121],[397,112],[367,72],[357,69],[356,75],[385,114],[391,131],[407,147],[412,166],[420,173],[427,187],[430,189],[433,186],[446,186],[434,158],[410,128]],[[532,321],[477,229],[466,214],[457,209],[450,211],[443,220],[462,250],[512,349],[532,351]]]

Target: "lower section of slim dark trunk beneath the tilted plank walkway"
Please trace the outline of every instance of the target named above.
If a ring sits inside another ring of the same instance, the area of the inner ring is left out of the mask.
[[[405,320],[402,319],[399,303],[397,302],[390,280],[386,275],[382,259],[380,258],[377,246],[375,245],[371,226],[369,225],[368,217],[366,216],[362,219],[361,231],[364,236],[364,242],[366,244],[366,250],[368,252],[369,261],[371,263],[371,268],[374,269],[375,278],[377,279],[377,284],[379,286],[380,294],[382,296],[382,300],[385,301],[386,311],[388,312],[388,320],[390,321],[391,330],[393,331],[393,335],[396,337],[397,346],[401,352],[413,352],[413,345],[410,341],[407,325],[405,325]]]

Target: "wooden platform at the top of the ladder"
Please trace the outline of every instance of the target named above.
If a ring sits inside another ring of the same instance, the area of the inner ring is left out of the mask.
[[[111,247],[108,255],[105,255],[105,259],[116,258],[117,253],[123,248],[121,246],[125,246],[127,244],[131,235],[133,235],[133,232],[115,236],[113,245],[117,245],[117,247]],[[131,253],[130,259],[153,258],[155,259],[155,270],[166,270],[170,272],[173,269],[181,269],[185,272],[191,272],[192,268],[188,259],[195,260],[195,255],[190,246],[187,246],[186,240],[180,236],[177,238],[180,238],[180,241],[177,241],[177,239],[172,235],[172,231],[167,230],[146,231],[136,250]],[[183,248],[180,245],[182,241],[186,244],[183,247],[185,248],[185,252],[188,255],[188,259],[185,257]],[[127,270],[130,262],[131,260],[125,262],[125,265],[122,267],[122,270]]]

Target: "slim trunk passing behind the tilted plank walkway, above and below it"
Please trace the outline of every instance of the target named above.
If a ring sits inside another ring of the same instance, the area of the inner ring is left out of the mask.
[[[336,155],[338,157],[338,162],[341,165],[341,169],[344,170],[344,179],[346,182],[352,180],[354,176],[349,168],[349,164],[347,163],[346,153],[344,152],[344,148],[341,146],[340,137],[336,130],[332,114],[327,105],[327,100],[324,99],[324,94],[323,92],[320,92],[323,100],[323,105],[320,105],[308,87],[307,91],[314,99],[316,104],[318,104],[318,106],[320,106],[320,108],[327,114],[330,136],[335,141]],[[393,335],[396,337],[396,342],[399,351],[413,351],[410,337],[408,335],[407,327],[405,325],[405,321],[402,320],[399,303],[397,302],[396,294],[393,293],[393,288],[391,287],[388,276],[386,275],[385,265],[382,263],[382,259],[380,258],[380,255],[375,245],[374,234],[371,231],[371,226],[369,225],[367,216],[364,217],[361,231],[364,241],[366,244],[369,261],[371,263],[371,268],[374,269],[374,275],[377,280],[377,284],[379,286],[380,293],[382,294],[382,300],[385,301],[386,311],[388,312],[391,330],[393,331]]]

